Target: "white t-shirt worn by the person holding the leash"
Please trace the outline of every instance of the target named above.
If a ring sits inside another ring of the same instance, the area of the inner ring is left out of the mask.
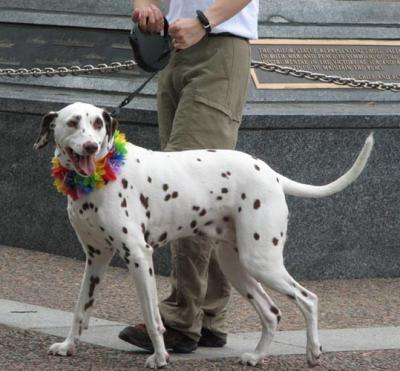
[[[166,0],[169,23],[178,18],[195,18],[196,10],[205,11],[215,0]],[[239,13],[212,29],[212,33],[229,32],[247,39],[257,39],[259,0],[252,0]]]

